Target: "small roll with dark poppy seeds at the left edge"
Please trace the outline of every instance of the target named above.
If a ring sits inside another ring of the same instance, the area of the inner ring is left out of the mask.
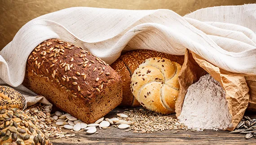
[[[18,91],[13,88],[0,86],[0,109],[18,108],[23,110],[26,100]]]

